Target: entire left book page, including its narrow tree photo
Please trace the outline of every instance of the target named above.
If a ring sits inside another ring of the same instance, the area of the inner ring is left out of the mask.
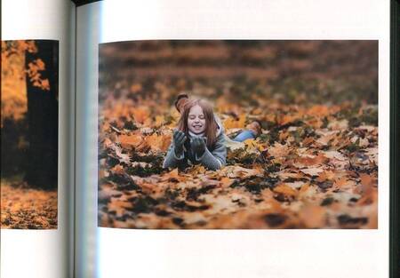
[[[2,277],[70,277],[75,5],[2,2]]]

